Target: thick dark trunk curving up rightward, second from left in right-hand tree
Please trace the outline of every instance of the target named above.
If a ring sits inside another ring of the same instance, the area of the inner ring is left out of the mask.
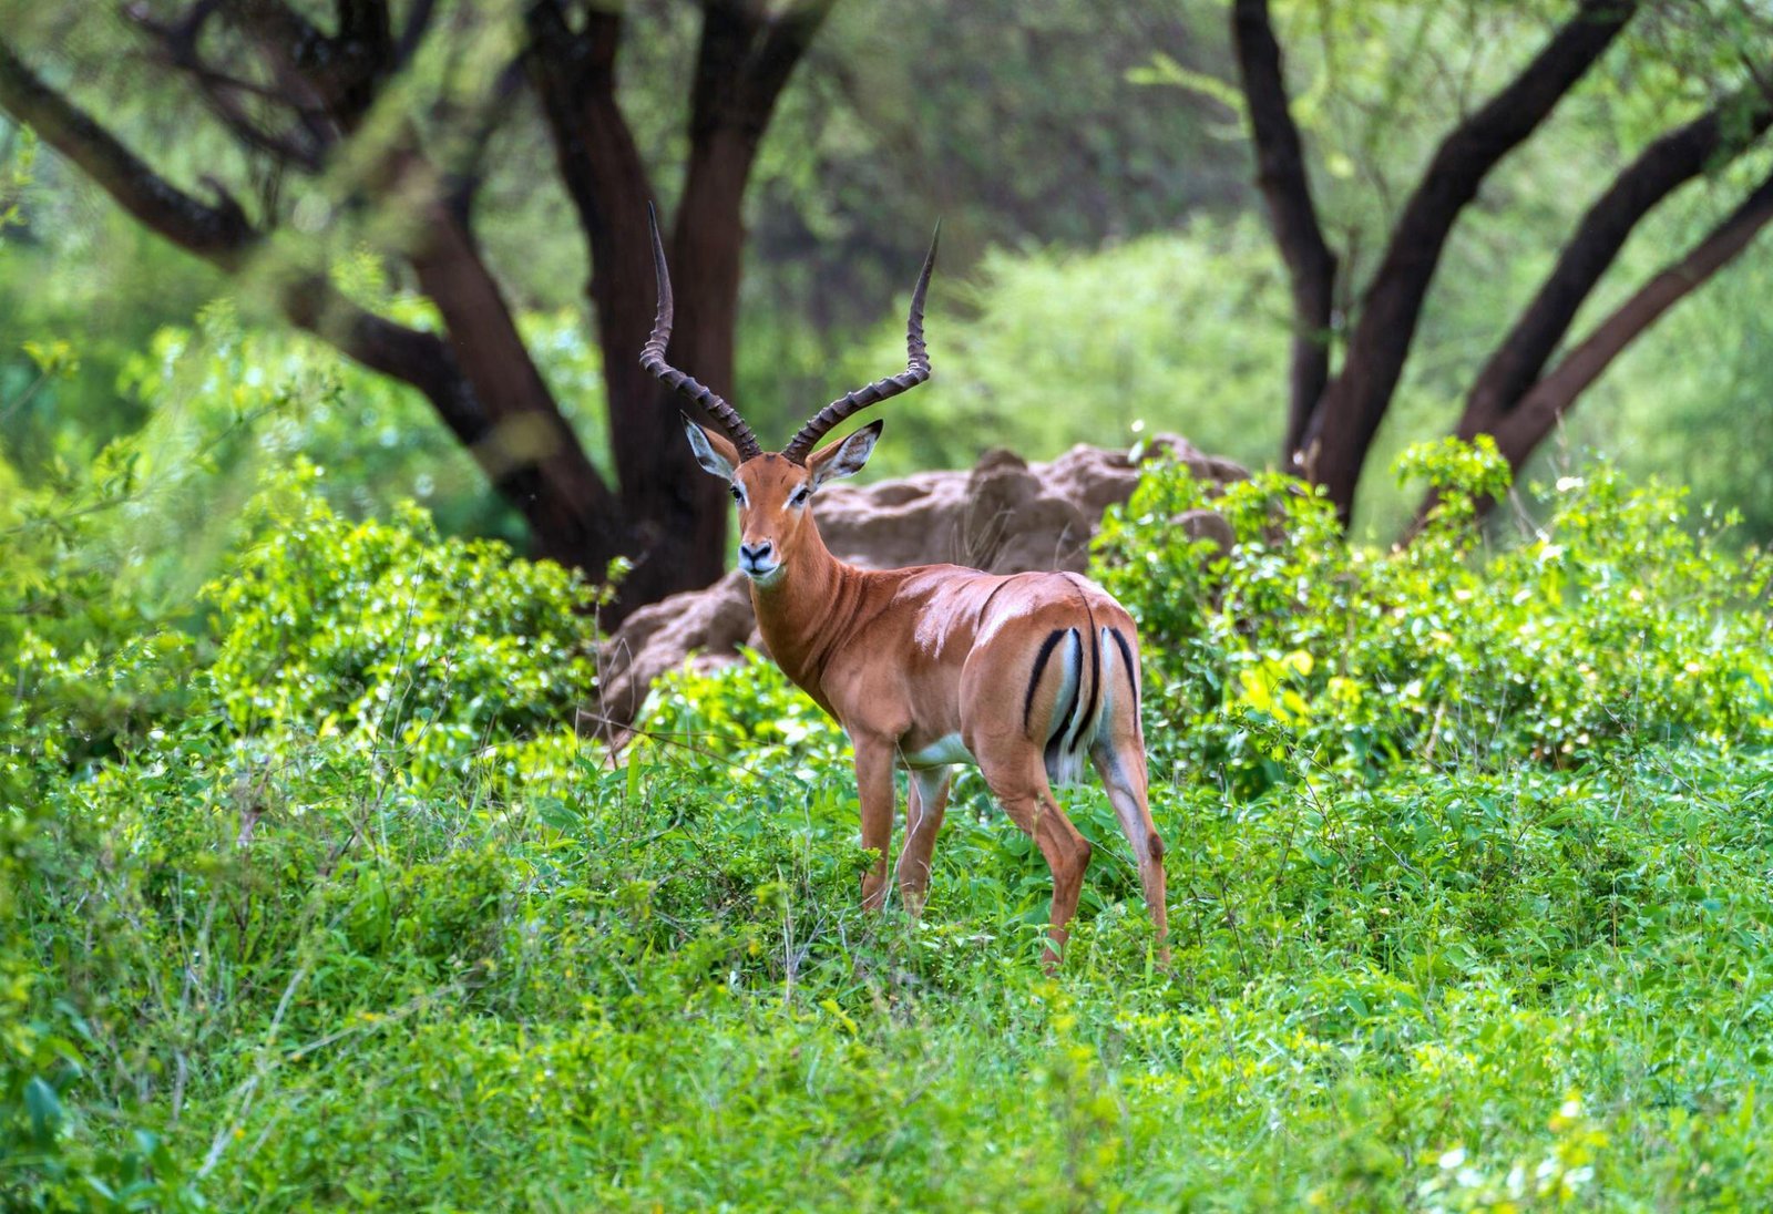
[[[1385,259],[1362,296],[1342,370],[1324,390],[1305,438],[1305,447],[1316,443],[1317,480],[1344,521],[1353,512],[1362,464],[1397,390],[1454,222],[1489,170],[1537,129],[1636,9],[1638,0],[1582,0],[1534,60],[1441,140],[1404,204]]]

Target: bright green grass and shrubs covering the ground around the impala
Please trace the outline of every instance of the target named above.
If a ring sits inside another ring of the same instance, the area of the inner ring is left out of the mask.
[[[1110,519],[1175,964],[1080,790],[1057,978],[975,774],[922,922],[865,916],[847,744],[773,665],[610,753],[587,590],[413,509],[278,479],[177,643],[71,610],[144,587],[106,510],[20,532],[64,608],[0,640],[103,682],[131,638],[179,698],[76,759],[37,743],[76,681],[14,684],[7,1207],[1764,1205],[1766,572],[1605,466],[1493,551],[1493,452],[1408,466],[1401,553],[1278,479]]]

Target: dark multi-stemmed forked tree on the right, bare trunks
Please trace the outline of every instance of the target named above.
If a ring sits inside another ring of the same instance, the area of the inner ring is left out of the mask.
[[[1257,184],[1293,300],[1282,461],[1321,484],[1344,523],[1461,213],[1491,170],[1546,122],[1635,19],[1649,19],[1642,12],[1651,9],[1640,0],[1578,0],[1539,51],[1440,140],[1385,234],[1378,268],[1356,291],[1342,280],[1347,257],[1330,248],[1319,222],[1268,0],[1232,0],[1232,43]],[[1746,7],[1738,25],[1766,34],[1764,18]],[[1768,50],[1766,44],[1736,48],[1739,83],[1725,89],[1707,112],[1645,145],[1597,193],[1541,287],[1472,379],[1456,434],[1495,436],[1504,457],[1519,470],[1621,351],[1773,220],[1769,175],[1585,337],[1566,346],[1578,310],[1638,223],[1675,190],[1716,172],[1766,135],[1773,124]],[[1339,315],[1337,300],[1344,294],[1356,300],[1347,315]]]

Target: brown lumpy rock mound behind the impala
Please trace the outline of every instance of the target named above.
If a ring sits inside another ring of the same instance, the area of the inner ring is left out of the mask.
[[[828,486],[817,498],[819,533],[840,560],[867,569],[952,562],[989,572],[1082,571],[1103,512],[1133,496],[1138,464],[1160,454],[1220,486],[1248,477],[1229,459],[1206,455],[1174,434],[1158,434],[1138,448],[1138,461],[1083,445],[1050,464],[988,450],[970,471]],[[1220,546],[1230,542],[1230,528],[1211,510],[1191,510],[1179,525]],[[603,700],[594,728],[624,728],[652,681],[688,656],[730,661],[746,642],[761,647],[750,590],[738,571],[706,590],[640,608],[603,647]]]

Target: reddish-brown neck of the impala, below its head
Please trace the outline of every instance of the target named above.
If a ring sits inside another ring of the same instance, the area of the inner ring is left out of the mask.
[[[817,521],[808,518],[780,572],[764,585],[752,583],[757,631],[769,645],[769,656],[826,712],[832,705],[819,684],[837,640],[855,615],[858,578],[860,571],[832,555],[819,537]]]

